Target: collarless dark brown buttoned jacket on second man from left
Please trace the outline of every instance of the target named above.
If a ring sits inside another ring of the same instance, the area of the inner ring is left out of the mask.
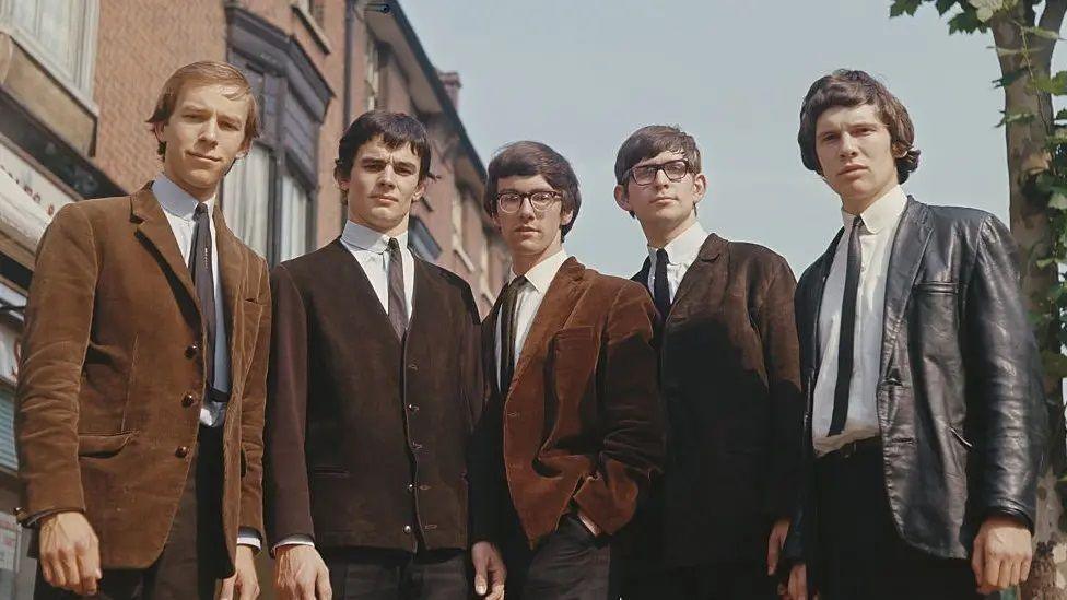
[[[414,266],[403,343],[340,240],[271,273],[271,544],[302,533],[320,548],[467,546],[478,310],[457,275]]]

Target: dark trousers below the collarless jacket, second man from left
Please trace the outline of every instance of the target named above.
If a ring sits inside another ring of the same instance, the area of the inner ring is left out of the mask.
[[[465,550],[326,550],[333,600],[467,600]]]

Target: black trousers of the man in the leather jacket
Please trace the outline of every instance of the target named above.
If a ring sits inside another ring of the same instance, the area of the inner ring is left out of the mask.
[[[933,556],[901,539],[886,496],[880,447],[831,452],[816,461],[816,478],[822,600],[982,598],[968,561]]]

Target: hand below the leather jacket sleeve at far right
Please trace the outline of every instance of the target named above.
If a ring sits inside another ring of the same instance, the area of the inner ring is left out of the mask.
[[[1030,530],[1024,525],[1001,515],[987,518],[974,538],[971,556],[978,593],[992,593],[1025,581],[1032,558]]]

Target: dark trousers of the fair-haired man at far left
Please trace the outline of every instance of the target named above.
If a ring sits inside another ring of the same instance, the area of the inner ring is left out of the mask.
[[[212,600],[218,579],[232,572],[222,532],[222,427],[200,427],[185,491],[163,553],[149,568],[104,569],[101,600]],[[35,600],[73,600],[37,569]]]

